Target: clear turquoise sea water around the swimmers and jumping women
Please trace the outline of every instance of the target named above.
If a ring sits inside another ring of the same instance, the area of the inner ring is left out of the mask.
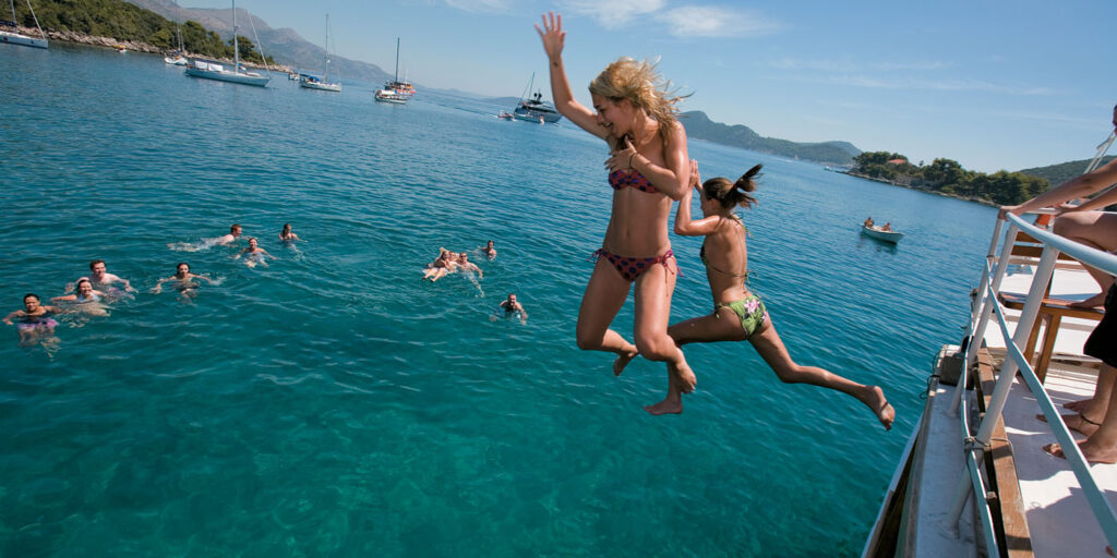
[[[431,93],[401,107],[371,85],[181,73],[0,49],[0,310],[94,258],[140,289],[64,316],[52,352],[4,326],[0,555],[860,551],[992,209],[693,142],[707,176],[765,165],[752,285],[792,356],[882,385],[898,417],[885,433],[850,397],[783,385],[745,344],[688,346],[698,392],[652,417],[662,366],[614,378],[573,340],[611,194],[596,140]],[[907,238],[862,238],[870,214]],[[233,222],[278,260],[168,249]],[[438,247],[487,239],[483,280],[419,280]],[[672,242],[672,320],[707,314],[700,239]],[[152,294],[178,261],[220,283]],[[509,291],[526,325],[488,320]]]

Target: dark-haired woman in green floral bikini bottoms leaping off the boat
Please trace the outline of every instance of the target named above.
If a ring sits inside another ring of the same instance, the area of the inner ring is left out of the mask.
[[[705,217],[697,221],[690,219],[691,193],[688,192],[679,202],[675,233],[705,237],[699,256],[706,266],[706,279],[714,295],[714,312],[672,325],[668,328],[671,338],[679,346],[748,340],[781,382],[813,384],[852,395],[872,411],[885,429],[890,430],[896,411],[888,404],[880,387],[861,385],[822,368],[796,364],[776,334],[764,302],[748,290],[748,250],[745,243],[748,231],[733,210],[737,205],[751,208],[756,203],[750,192],[756,189],[755,179],[761,165],[750,169],[736,182],[717,177],[705,184],[699,177],[698,164],[691,162],[691,184],[698,191]],[[645,408],[651,414],[681,413],[681,392],[678,381],[674,376],[668,377],[667,397]]]

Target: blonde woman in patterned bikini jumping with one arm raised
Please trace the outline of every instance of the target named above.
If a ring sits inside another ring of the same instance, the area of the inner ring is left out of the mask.
[[[543,16],[543,40],[551,67],[551,94],[558,113],[604,140],[610,156],[612,214],[593,275],[579,308],[576,338],[584,350],[617,355],[614,374],[636,356],[667,363],[684,392],[695,375],[667,335],[678,264],[667,235],[672,200],[689,189],[687,134],[676,117],[680,97],[666,90],[653,65],[622,57],[590,83],[593,108],[574,99],[563,67],[566,31],[562,16]],[[633,343],[611,329],[636,285]]]

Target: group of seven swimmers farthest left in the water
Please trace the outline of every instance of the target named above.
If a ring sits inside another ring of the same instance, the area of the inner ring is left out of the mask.
[[[199,247],[230,246],[240,238],[241,233],[241,227],[233,224],[229,228],[228,234],[207,239],[197,246],[191,244],[195,248],[192,251],[197,251]],[[290,223],[284,224],[283,230],[279,232],[279,241],[292,246],[297,240],[298,235],[292,231]],[[168,247],[182,249],[180,244],[168,244]],[[249,267],[255,267],[257,263],[267,267],[267,258],[276,259],[275,256],[271,256],[267,250],[259,247],[256,238],[249,238],[248,248],[242,249],[233,256],[233,259],[239,260],[241,258],[244,258],[245,263]],[[174,275],[156,281],[151,292],[157,295],[162,292],[163,283],[173,282],[174,289],[180,295],[180,299],[189,302],[198,294],[198,287],[201,285],[199,281],[206,281],[210,285],[218,283],[216,279],[209,276],[191,273],[190,264],[180,262],[175,266]],[[57,343],[57,339],[54,338],[55,327],[58,326],[58,320],[54,318],[55,316],[61,314],[108,316],[108,304],[121,298],[131,298],[137,291],[127,279],[109,273],[105,260],[93,260],[89,262],[89,275],[68,283],[65,292],[65,295],[50,299],[50,302],[59,304],[60,306],[44,305],[38,295],[28,292],[23,296],[23,309],[12,311],[3,318],[4,324],[16,326],[16,329],[19,331],[20,345],[26,346],[35,343],[44,343],[44,346],[49,348]]]

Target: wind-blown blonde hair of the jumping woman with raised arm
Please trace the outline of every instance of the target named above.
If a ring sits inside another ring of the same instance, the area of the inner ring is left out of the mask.
[[[675,95],[671,83],[656,73],[656,65],[637,61],[622,56],[605,66],[598,77],[590,81],[590,93],[612,102],[628,99],[632,106],[643,109],[657,123],[659,135],[667,142],[675,126],[679,126],[679,109],[675,106],[688,95]]]

